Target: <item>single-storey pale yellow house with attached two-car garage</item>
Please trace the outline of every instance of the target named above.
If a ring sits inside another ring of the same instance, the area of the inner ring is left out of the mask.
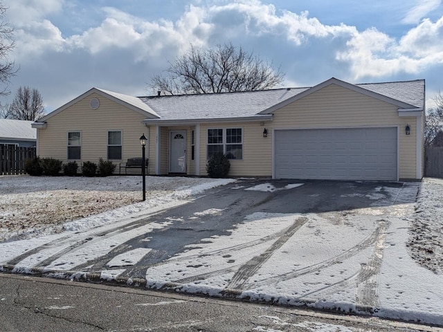
[[[118,164],[149,142],[150,174],[206,176],[217,151],[229,176],[422,178],[424,80],[206,95],[131,97],[93,88],[38,122],[37,154]]]

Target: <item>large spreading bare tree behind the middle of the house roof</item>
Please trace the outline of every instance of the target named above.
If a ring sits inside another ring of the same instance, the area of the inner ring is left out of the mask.
[[[232,44],[215,49],[195,48],[170,62],[166,75],[152,78],[150,87],[165,95],[220,93],[271,89],[284,74],[272,64]]]

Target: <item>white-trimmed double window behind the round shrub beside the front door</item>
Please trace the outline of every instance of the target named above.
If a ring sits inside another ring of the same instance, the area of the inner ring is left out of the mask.
[[[243,158],[242,128],[208,129],[208,156],[225,154],[228,159]]]

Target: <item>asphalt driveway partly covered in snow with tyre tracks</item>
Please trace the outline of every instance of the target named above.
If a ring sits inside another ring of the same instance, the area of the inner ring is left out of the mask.
[[[413,211],[417,190],[241,180],[142,219],[45,237],[35,248],[17,241],[21,255],[6,250],[1,269],[374,313],[390,227]]]

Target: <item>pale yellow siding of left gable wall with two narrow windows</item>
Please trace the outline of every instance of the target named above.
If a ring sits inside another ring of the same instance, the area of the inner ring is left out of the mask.
[[[96,110],[89,107],[92,98],[100,100],[100,107]],[[147,132],[141,123],[144,118],[141,113],[93,93],[49,118],[46,129],[39,129],[39,156],[66,163],[67,133],[80,131],[82,149],[78,162],[98,163],[100,157],[107,160],[108,131],[122,131],[122,160],[112,160],[118,165],[127,158],[141,156],[140,136]]]

